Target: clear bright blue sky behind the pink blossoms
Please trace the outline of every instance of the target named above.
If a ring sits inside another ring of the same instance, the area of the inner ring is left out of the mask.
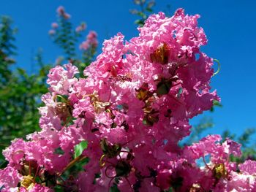
[[[212,80],[224,107],[205,115],[214,119],[215,126],[209,130],[220,134],[225,129],[241,134],[244,128],[256,127],[256,61],[255,31],[256,2],[252,0],[156,0],[154,12],[166,11],[170,4],[170,14],[183,7],[187,14],[200,14],[200,26],[206,31],[208,45],[203,51],[217,58],[221,71]],[[129,14],[135,8],[132,0],[85,1],[85,0],[0,0],[0,15],[10,15],[18,27],[16,60],[31,72],[31,59],[42,47],[45,62],[53,63],[60,50],[48,37],[50,24],[56,20],[56,8],[63,5],[72,15],[72,23],[87,23],[89,30],[97,31],[99,42],[112,37],[118,31],[130,39],[138,35],[134,24],[137,17]],[[81,39],[82,40],[82,39]],[[99,49],[100,51],[100,49]],[[197,120],[202,116],[192,120]],[[253,137],[252,142],[256,142]]]

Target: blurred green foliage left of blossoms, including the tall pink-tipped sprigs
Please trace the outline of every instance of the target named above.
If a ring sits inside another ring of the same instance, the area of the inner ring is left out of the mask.
[[[64,53],[64,58],[57,64],[70,62],[78,66],[83,76],[83,69],[94,59],[97,47],[83,50],[80,58],[75,54],[78,37],[69,20],[58,17],[59,29],[53,42]],[[16,55],[15,34],[12,19],[7,16],[0,18],[0,150],[10,145],[12,139],[26,139],[27,134],[39,131],[38,107],[42,106],[41,96],[48,92],[47,74],[56,64],[45,64],[42,50],[34,56],[35,65],[39,70],[29,74],[25,69],[15,66]],[[13,67],[12,67],[13,66]],[[0,153],[0,164],[4,157]]]

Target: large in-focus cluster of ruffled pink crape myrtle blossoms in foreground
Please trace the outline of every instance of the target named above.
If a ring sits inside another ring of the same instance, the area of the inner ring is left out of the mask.
[[[220,100],[209,85],[213,59],[200,51],[207,39],[198,18],[183,9],[172,18],[151,15],[129,42],[121,33],[105,40],[86,78],[72,64],[50,69],[49,93],[39,108],[42,131],[4,150],[3,188],[255,191],[255,161],[229,161],[241,155],[238,143],[210,135],[178,145],[190,134],[189,119]],[[76,156],[83,141],[87,147]],[[82,170],[61,177],[84,158]]]

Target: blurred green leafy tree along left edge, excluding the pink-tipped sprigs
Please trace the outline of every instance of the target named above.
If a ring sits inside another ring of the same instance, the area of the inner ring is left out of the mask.
[[[25,137],[39,130],[39,114],[42,93],[47,91],[46,74],[50,66],[40,64],[36,74],[27,74],[24,69],[11,69],[15,65],[15,33],[12,20],[0,18],[0,149],[10,145],[17,137]],[[37,58],[39,55],[37,55]],[[36,61],[39,61],[38,59]],[[38,63],[39,64],[39,63]],[[0,156],[0,163],[2,161]]]

